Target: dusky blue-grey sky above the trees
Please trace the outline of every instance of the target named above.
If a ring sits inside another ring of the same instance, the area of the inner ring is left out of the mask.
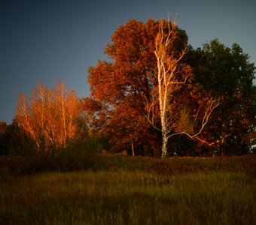
[[[239,43],[256,64],[254,0],[2,0],[0,1],[0,121],[11,124],[21,92],[60,81],[79,98],[90,95],[87,69],[107,59],[118,26],[178,15],[196,49],[215,37]]]

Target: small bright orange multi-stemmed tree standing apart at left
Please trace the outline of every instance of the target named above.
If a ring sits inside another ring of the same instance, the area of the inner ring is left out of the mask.
[[[59,145],[66,148],[69,141],[81,134],[76,121],[81,109],[75,92],[64,83],[55,89],[38,83],[30,98],[20,95],[15,118],[34,139],[38,151]]]

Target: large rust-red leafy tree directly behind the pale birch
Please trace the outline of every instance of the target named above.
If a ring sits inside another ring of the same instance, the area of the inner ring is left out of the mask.
[[[167,130],[162,132],[163,130],[152,127],[152,124],[154,127],[161,127],[161,119],[166,119],[167,116],[166,114],[166,116],[160,117],[160,104],[157,104],[156,101],[157,96],[162,96],[157,95],[156,91],[160,86],[157,78],[159,58],[157,59],[155,54],[155,40],[156,37],[160,38],[159,35],[157,36],[160,26],[163,26],[163,34],[168,36],[169,22],[154,22],[151,19],[145,24],[130,20],[117,28],[111,37],[112,43],[105,49],[105,53],[111,58],[110,62],[99,61],[96,67],[89,68],[88,83],[90,83],[91,96],[84,99],[84,107],[91,116],[91,126],[99,133],[107,133],[115,144],[117,142],[120,142],[120,145],[133,145],[135,142],[143,145],[148,144],[152,146],[155,156],[159,155],[163,133],[166,135],[167,132]],[[172,80],[172,83],[174,81],[177,84],[181,81],[184,83],[186,76],[190,74],[190,68],[184,65],[182,57],[185,53],[182,51],[186,46],[187,35],[176,27],[175,38],[172,39],[171,45],[166,46],[164,58],[171,58],[177,65],[177,71],[174,70],[174,72],[185,77],[181,76],[180,80]],[[160,58],[161,61],[162,59]],[[163,63],[166,64],[166,62]],[[176,128],[182,129],[182,124],[183,128],[185,124],[188,124],[185,119],[187,115],[191,117],[207,111],[198,107],[200,110],[197,112],[194,112],[194,109],[187,112],[190,108],[187,107],[186,110],[185,103],[189,103],[189,107],[192,107],[194,101],[197,101],[197,105],[200,104],[199,99],[204,103],[208,102],[208,113],[201,120],[201,124],[204,125],[208,121],[209,114],[215,108],[216,101],[200,96],[197,93],[199,86],[192,85],[192,83],[193,74],[183,87],[172,89],[171,94],[175,95],[174,101],[166,103],[165,107],[167,105],[172,107],[171,118],[173,123],[178,124]],[[166,92],[169,92],[169,88],[167,89]],[[152,98],[154,95],[156,98]],[[169,101],[169,97],[168,100],[166,97],[165,101]],[[151,123],[148,122],[149,111],[152,112],[151,115],[154,115],[154,123],[152,123],[152,117]],[[166,113],[166,108],[162,109],[161,112]],[[181,112],[183,112],[182,115]],[[166,124],[169,126],[170,122],[166,121]],[[175,127],[173,124],[171,125],[173,128]],[[177,131],[173,129],[172,133],[177,133]],[[189,134],[184,130],[182,131]],[[166,154],[166,147],[164,149],[163,156]]]

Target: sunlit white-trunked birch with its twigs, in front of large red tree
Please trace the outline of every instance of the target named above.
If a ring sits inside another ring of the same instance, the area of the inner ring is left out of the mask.
[[[155,38],[154,55],[157,58],[157,86],[151,92],[151,103],[148,102],[148,121],[157,130],[162,133],[162,157],[166,156],[168,139],[175,135],[186,135],[191,139],[199,139],[208,145],[205,139],[200,138],[203,128],[209,121],[212,111],[218,107],[219,100],[208,98],[204,105],[194,110],[194,115],[184,108],[180,111],[179,121],[174,119],[172,112],[172,103],[175,101],[175,91],[179,86],[183,86],[191,75],[191,69],[188,65],[182,63],[182,58],[187,52],[187,46],[177,55],[172,51],[177,36],[177,23],[168,21],[169,31],[164,30],[164,20],[160,21],[159,31]],[[159,107],[160,127],[157,127],[156,108]],[[199,116],[202,115],[203,116]],[[192,118],[192,119],[191,119]],[[200,120],[199,120],[200,118]],[[195,124],[200,122],[200,127],[195,130]]]

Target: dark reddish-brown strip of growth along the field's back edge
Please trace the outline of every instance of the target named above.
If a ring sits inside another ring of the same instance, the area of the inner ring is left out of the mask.
[[[142,170],[162,175],[187,172],[245,172],[256,176],[256,154],[233,157],[128,157],[91,154],[83,149],[69,149],[50,155],[0,156],[1,174],[31,175],[38,172],[72,172],[84,169],[129,171]]]

